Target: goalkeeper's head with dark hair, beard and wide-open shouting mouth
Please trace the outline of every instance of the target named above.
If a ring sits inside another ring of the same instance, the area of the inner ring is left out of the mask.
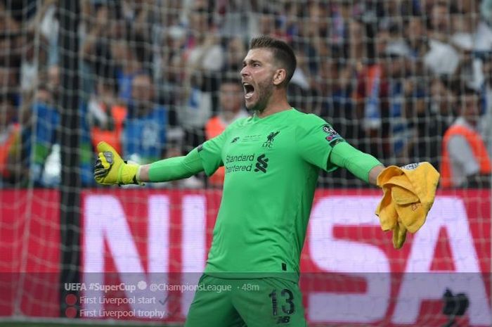
[[[282,103],[295,66],[294,53],[283,42],[262,37],[254,39],[242,60],[241,82],[246,108],[262,113]]]

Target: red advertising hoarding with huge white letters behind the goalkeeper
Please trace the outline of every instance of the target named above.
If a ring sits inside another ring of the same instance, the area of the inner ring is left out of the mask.
[[[470,297],[462,318],[469,326],[490,326],[490,196],[490,191],[439,193],[426,224],[408,236],[403,249],[394,250],[391,235],[381,231],[374,215],[380,191],[318,190],[301,258],[310,325],[439,326],[446,319],[441,296],[449,288]],[[15,224],[2,206],[2,239],[11,226],[27,229],[29,237],[27,243],[6,238],[13,246],[2,250],[0,269],[49,272],[53,281],[38,283],[48,288],[58,278],[58,196],[42,191],[36,199],[39,207],[30,220],[37,223],[27,227],[22,226],[26,217]],[[220,199],[221,193],[211,190],[84,193],[82,284],[67,286],[79,291],[79,316],[184,321]],[[32,249],[27,255],[24,246]],[[28,262],[23,266],[22,254]],[[36,266],[39,258],[43,264]],[[22,312],[58,316],[56,295],[51,295],[53,309],[42,312],[34,309],[32,296],[23,297]],[[13,308],[8,299],[0,302],[3,316],[12,315]]]

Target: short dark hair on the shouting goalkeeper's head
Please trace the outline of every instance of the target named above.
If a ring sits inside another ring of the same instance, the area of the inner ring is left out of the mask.
[[[294,51],[292,48],[279,39],[273,39],[273,37],[268,37],[267,35],[262,35],[261,37],[254,37],[250,43],[250,49],[270,49],[273,53],[273,58],[280,62],[280,65],[285,68],[287,72],[287,77],[283,84],[287,85],[294,75],[294,70],[297,66],[297,60],[295,58]]]

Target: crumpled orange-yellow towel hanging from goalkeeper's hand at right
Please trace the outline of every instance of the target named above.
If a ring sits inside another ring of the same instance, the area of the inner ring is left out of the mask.
[[[439,172],[429,162],[389,166],[377,177],[384,194],[376,214],[381,229],[393,231],[394,248],[403,246],[407,231],[415,233],[425,223],[438,182]]]

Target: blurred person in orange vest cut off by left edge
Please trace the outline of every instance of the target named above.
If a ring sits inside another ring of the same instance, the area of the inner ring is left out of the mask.
[[[0,186],[13,186],[22,178],[20,126],[15,114],[14,94],[0,94]]]

